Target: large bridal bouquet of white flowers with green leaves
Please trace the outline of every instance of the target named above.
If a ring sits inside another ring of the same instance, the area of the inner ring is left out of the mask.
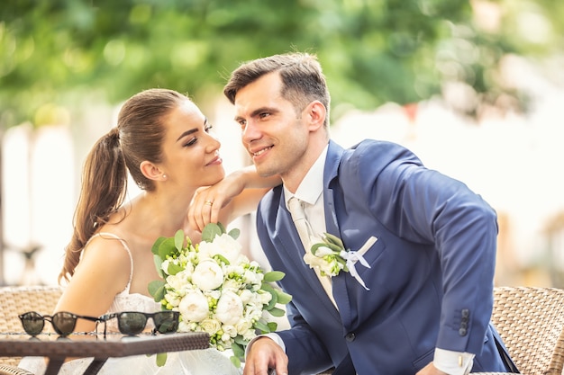
[[[277,304],[292,299],[270,284],[281,280],[283,272],[264,272],[241,254],[239,233],[226,233],[221,224],[212,223],[197,244],[182,230],[174,237],[159,237],[152,253],[163,280],[149,285],[163,309],[180,312],[178,331],[208,333],[212,347],[232,349],[235,367],[241,366],[251,339],[276,330],[268,316],[284,316]]]

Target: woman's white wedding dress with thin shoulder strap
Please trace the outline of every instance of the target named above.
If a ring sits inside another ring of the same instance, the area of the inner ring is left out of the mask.
[[[110,233],[104,233],[104,235],[115,237]],[[121,238],[117,239],[122,241],[123,246],[130,254],[131,258],[132,254],[129,247]],[[131,269],[133,272],[133,262]],[[114,303],[108,312],[159,311],[159,304],[153,299],[138,293],[130,294],[129,290],[132,281],[132,272],[130,274],[130,282],[121,293],[115,296]],[[113,319],[112,322],[108,322],[108,330],[117,329],[114,327],[115,321],[116,319]],[[110,326],[111,324],[113,326]],[[150,328],[149,325],[152,325],[151,319],[147,325],[148,328]],[[110,358],[107,362],[105,362],[104,367],[102,367],[102,369],[98,372],[98,375],[241,375],[242,370],[236,369],[232,365],[232,362],[229,360],[230,355],[231,352],[219,352],[215,349],[168,353],[167,362],[162,367],[157,366],[155,355],[135,355],[123,358]],[[59,371],[59,375],[76,375],[84,373],[92,360],[92,358],[82,358],[65,362]],[[31,371],[34,374],[44,373],[47,368],[43,357],[24,357],[18,364],[18,367]]]

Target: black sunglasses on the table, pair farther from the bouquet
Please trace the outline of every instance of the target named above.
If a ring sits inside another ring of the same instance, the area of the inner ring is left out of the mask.
[[[29,311],[19,315],[18,317],[22,320],[22,326],[25,333],[32,336],[41,334],[46,320],[50,322],[53,329],[55,329],[55,332],[62,336],[67,336],[74,332],[75,326],[77,326],[77,319],[86,319],[93,322],[99,321],[99,318],[97,317],[85,317],[69,313],[68,311],[59,311],[52,316],[42,316],[38,312]]]

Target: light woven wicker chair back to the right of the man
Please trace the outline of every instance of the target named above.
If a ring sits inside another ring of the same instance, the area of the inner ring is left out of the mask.
[[[527,375],[561,375],[564,366],[564,290],[499,287],[494,293],[496,303],[492,322],[517,368]]]

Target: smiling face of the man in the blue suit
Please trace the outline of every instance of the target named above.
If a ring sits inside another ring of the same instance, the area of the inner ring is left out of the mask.
[[[281,96],[277,73],[260,77],[235,97],[235,121],[241,125],[243,147],[262,176],[280,174],[284,180],[302,174],[309,130],[302,113]],[[286,183],[286,181],[285,181]]]

